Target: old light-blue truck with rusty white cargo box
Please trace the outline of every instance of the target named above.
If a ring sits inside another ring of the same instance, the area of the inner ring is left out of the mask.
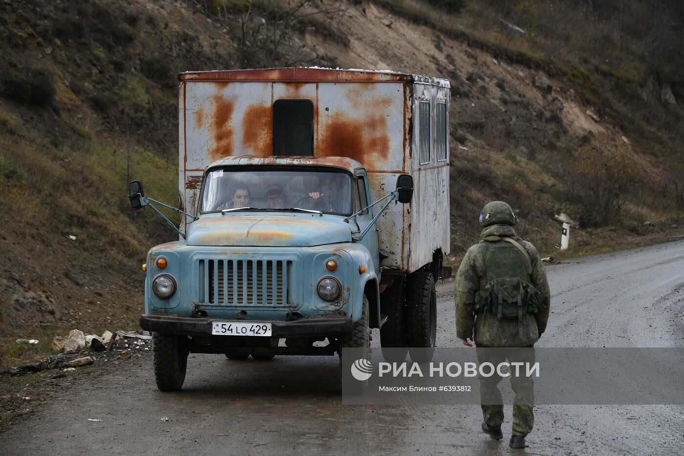
[[[179,79],[179,240],[150,249],[140,318],[159,390],[181,389],[189,353],[334,355],[368,347],[373,328],[404,357],[434,347],[449,81],[327,68]],[[129,193],[157,211],[140,181]]]

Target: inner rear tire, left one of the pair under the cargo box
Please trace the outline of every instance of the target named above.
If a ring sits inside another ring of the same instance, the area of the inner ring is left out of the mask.
[[[404,276],[380,294],[380,313],[387,316],[380,328],[382,356],[388,362],[403,362],[408,348],[406,345],[406,300],[404,299]],[[391,350],[385,350],[391,349]]]

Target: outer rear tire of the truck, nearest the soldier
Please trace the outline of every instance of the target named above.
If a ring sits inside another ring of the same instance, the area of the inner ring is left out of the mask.
[[[414,362],[430,362],[437,339],[437,292],[434,277],[430,272],[416,271],[408,276],[406,288],[408,352]]]

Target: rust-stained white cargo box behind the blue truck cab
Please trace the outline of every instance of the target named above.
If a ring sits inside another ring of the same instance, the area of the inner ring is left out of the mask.
[[[375,201],[414,179],[410,204],[378,220],[386,273],[410,273],[449,253],[449,81],[391,71],[328,68],[206,71],[179,76],[179,192],[197,210],[205,167],[231,155],[283,153],[274,103],[311,101],[313,157],[350,157],[366,168]],[[377,208],[376,208],[377,210]],[[185,231],[187,220],[181,220]]]

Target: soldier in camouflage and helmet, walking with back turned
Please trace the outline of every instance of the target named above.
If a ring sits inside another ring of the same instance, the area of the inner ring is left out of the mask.
[[[518,217],[510,205],[492,201],[479,214],[484,229],[477,244],[466,252],[456,273],[456,335],[466,346],[477,346],[480,363],[534,364],[534,343],[547,327],[551,294],[539,253],[518,238],[512,227]],[[525,348],[511,348],[525,347]],[[516,394],[510,446],[525,448],[525,436],[534,425],[533,381],[511,375]],[[503,405],[498,374],[479,377],[482,431],[503,438]]]

